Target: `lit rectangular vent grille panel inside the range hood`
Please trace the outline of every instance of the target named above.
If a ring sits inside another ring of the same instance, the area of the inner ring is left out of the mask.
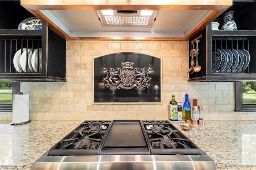
[[[151,15],[144,15],[142,11],[113,10],[112,14],[103,15],[101,10],[96,10],[96,13],[102,27],[153,27],[158,10],[150,10]]]

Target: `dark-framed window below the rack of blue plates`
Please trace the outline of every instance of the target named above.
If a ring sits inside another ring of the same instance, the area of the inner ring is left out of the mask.
[[[256,81],[235,83],[235,111],[256,111]]]

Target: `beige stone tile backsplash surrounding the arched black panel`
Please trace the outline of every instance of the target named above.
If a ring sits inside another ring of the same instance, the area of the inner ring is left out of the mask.
[[[255,112],[234,112],[233,82],[188,82],[188,41],[67,41],[67,82],[21,82],[32,101],[31,120],[168,119],[172,94],[182,104],[204,105],[206,120],[256,120]],[[92,59],[117,52],[162,58],[161,104],[92,104]],[[56,68],[58,69],[58,68]],[[12,120],[1,112],[0,120]]]

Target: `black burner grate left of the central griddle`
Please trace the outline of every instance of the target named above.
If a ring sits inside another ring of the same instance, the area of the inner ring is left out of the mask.
[[[49,155],[99,154],[111,121],[84,121],[50,150]]]

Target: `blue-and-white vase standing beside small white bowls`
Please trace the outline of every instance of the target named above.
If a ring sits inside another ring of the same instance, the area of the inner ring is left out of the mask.
[[[234,21],[234,11],[226,12],[223,14],[224,22],[221,30],[237,30],[236,22]]]

